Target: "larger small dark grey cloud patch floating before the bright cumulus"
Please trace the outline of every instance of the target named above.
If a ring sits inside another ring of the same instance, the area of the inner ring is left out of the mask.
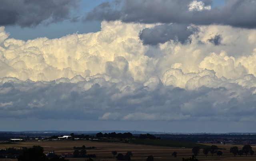
[[[191,42],[190,35],[197,31],[198,28],[183,24],[163,24],[143,29],[139,36],[143,44],[157,45],[169,40],[185,44]]]

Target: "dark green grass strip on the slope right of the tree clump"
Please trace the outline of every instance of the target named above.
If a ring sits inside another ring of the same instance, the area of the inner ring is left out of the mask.
[[[205,148],[209,147],[208,145],[202,145],[198,143],[186,142],[186,141],[173,141],[173,140],[151,140],[151,139],[134,139],[130,140],[131,143],[134,144],[142,144],[142,145],[155,145],[155,146],[166,146],[166,147],[200,147]]]

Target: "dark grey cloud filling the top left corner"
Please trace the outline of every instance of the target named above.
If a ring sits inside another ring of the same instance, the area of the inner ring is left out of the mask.
[[[78,0],[1,0],[0,26],[36,26],[70,18],[70,10]]]

